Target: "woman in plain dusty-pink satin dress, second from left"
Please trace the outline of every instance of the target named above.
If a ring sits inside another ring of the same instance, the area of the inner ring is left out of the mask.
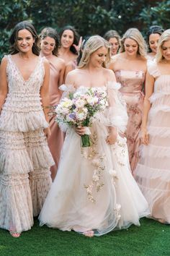
[[[63,84],[63,75],[65,71],[65,63],[63,59],[58,58],[58,33],[51,27],[45,27],[40,33],[40,55],[45,56],[50,63],[50,106],[58,104],[61,98],[61,91],[58,89]],[[52,179],[55,178],[58,162],[61,155],[64,135],[58,127],[55,117],[50,117],[50,136],[48,137],[48,146],[53,155],[55,165],[50,168]]]

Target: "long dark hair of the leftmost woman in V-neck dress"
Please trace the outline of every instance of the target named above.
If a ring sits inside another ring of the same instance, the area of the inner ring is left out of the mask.
[[[39,56],[40,48],[38,46],[38,35],[35,30],[35,27],[32,25],[31,22],[29,22],[27,20],[24,20],[23,22],[19,22],[19,23],[17,23],[17,25],[15,25],[15,27],[12,31],[12,35],[9,38],[9,43],[11,45],[9,48],[9,54],[17,54],[19,52],[19,50],[17,48],[17,36],[18,36],[19,30],[30,31],[30,33],[32,34],[32,37],[35,40],[35,43],[32,46],[32,53]]]

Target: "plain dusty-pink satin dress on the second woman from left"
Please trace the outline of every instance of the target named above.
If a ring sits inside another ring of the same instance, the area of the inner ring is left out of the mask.
[[[58,68],[54,65],[49,58],[47,58],[50,63],[50,86],[49,86],[49,97],[50,106],[56,106],[61,99],[61,90],[58,89]],[[55,165],[51,166],[51,177],[55,178],[58,169],[58,162],[61,156],[61,148],[63,146],[64,133],[61,131],[57,122],[55,121],[55,116],[50,117],[50,132],[51,135],[48,137],[48,146],[50,148],[50,153],[53,155]]]

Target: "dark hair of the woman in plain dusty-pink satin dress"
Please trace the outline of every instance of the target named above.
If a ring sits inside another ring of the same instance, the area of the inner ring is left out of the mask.
[[[55,40],[55,48],[53,49],[53,55],[58,56],[58,46],[60,40],[57,30],[54,30],[52,27],[45,27],[40,33],[40,40],[43,40],[47,36]]]

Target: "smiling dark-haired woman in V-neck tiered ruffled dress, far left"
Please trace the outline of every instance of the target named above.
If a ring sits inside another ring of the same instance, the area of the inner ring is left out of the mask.
[[[37,33],[19,22],[0,68],[0,227],[14,237],[31,229],[50,189],[53,158],[46,142],[48,61],[39,57]]]

